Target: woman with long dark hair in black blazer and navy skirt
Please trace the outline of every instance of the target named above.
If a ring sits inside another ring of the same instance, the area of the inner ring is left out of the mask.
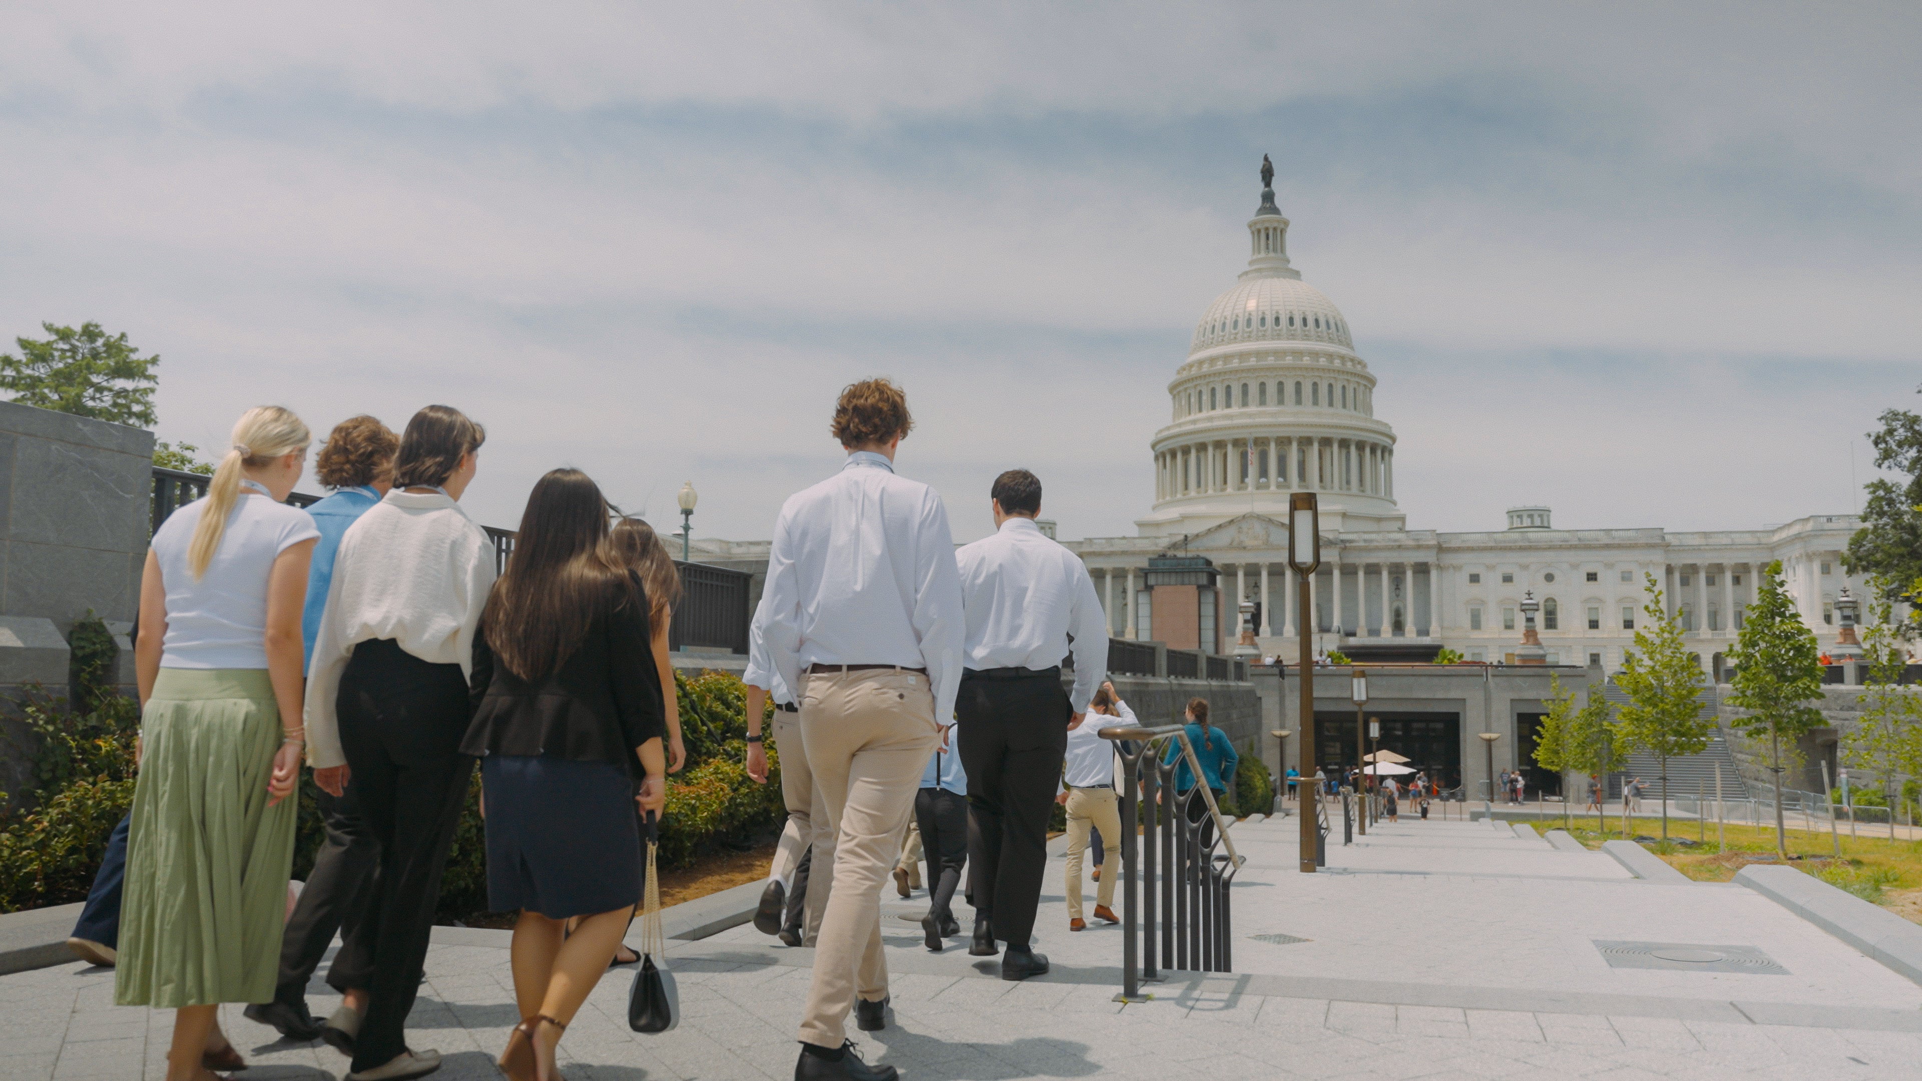
[[[461,742],[480,756],[488,908],[521,914],[521,1023],[500,1056],[513,1081],[559,1077],[561,1031],[640,900],[634,804],[659,816],[667,796],[652,612],[640,575],[607,544],[600,487],[579,469],[542,477],[480,616]]]

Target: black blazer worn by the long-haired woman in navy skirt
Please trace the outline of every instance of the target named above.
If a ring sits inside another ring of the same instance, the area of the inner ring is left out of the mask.
[[[613,762],[638,777],[634,748],[667,735],[650,629],[636,577],[632,594],[607,598],[580,648],[557,671],[530,683],[496,664],[482,623],[469,689],[475,719],[461,754]]]

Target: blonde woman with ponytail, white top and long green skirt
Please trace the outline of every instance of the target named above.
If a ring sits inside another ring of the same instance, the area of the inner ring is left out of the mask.
[[[308,425],[248,410],[140,577],[140,779],[127,841],[115,998],[175,1008],[167,1081],[244,1069],[221,1002],[269,1002],[294,862],[300,610],[319,531],[286,506]]]

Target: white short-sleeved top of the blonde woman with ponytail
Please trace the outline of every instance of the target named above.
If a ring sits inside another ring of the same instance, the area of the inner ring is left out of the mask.
[[[198,498],[173,512],[154,535],[160,581],[167,587],[167,639],[160,667],[267,667],[267,575],[288,546],[321,531],[298,506],[248,494],[234,500],[208,573],[194,581],[186,546],[206,514]]]

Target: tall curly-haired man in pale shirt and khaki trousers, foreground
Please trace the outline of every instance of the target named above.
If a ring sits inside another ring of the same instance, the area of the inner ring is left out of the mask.
[[[961,583],[948,510],[934,489],[894,475],[913,427],[886,379],[842,390],[834,437],[848,464],[780,508],[755,625],[780,679],[800,692],[801,746],[821,794],[815,837],[834,835],[796,1081],[892,1081],[892,1066],[850,1054],[850,1006],[886,1027],[880,887],[921,769],[953,716],[961,683]],[[821,846],[817,844],[817,850]],[[857,1002],[859,996],[859,1002]]]

